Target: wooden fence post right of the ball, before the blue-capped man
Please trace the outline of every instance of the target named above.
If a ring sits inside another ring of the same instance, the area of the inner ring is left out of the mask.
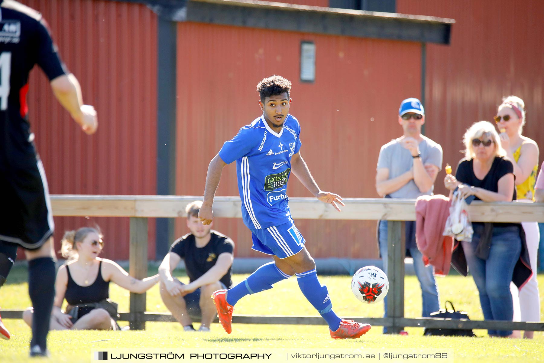
[[[395,321],[404,318],[404,257],[406,255],[405,222],[387,221],[387,278],[389,292],[387,298],[387,317],[393,318],[392,327],[387,334],[398,334],[404,327]]]

